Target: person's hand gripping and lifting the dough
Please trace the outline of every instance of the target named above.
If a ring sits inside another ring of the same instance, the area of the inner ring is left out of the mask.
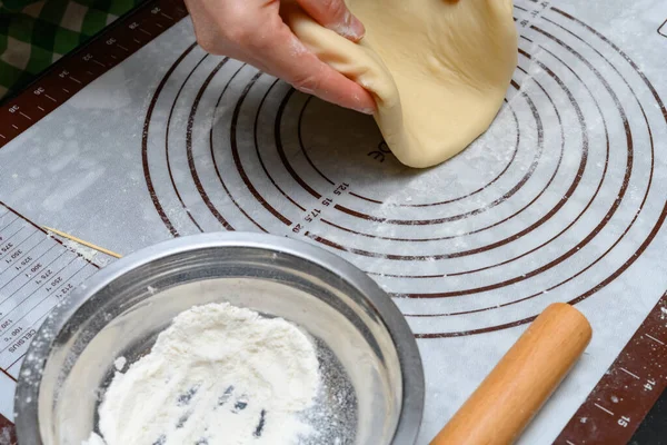
[[[283,0],[285,1],[285,0]],[[344,0],[296,0],[321,26],[358,41],[364,24]],[[203,50],[250,63],[296,89],[371,115],[370,93],[317,58],[280,17],[280,0],[186,0]]]

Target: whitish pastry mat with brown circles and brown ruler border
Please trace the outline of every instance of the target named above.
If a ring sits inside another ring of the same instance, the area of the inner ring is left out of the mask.
[[[4,425],[34,329],[113,260],[41,226],[121,255],[246,230],[332,250],[395,297],[425,363],[420,444],[552,301],[594,338],[521,443],[628,442],[667,385],[667,3],[518,0],[504,108],[428,170],[371,118],[207,56],[185,17],[150,1],[0,108]]]

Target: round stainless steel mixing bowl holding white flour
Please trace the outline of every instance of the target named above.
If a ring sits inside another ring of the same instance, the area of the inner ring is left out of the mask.
[[[212,301],[282,317],[316,339],[325,383],[316,405],[327,419],[318,444],[332,443],[327,436],[358,445],[416,442],[421,359],[389,296],[326,250],[237,233],[178,238],[132,254],[57,307],[21,367],[19,443],[80,445],[97,428],[113,360],[138,359],[177,314]]]

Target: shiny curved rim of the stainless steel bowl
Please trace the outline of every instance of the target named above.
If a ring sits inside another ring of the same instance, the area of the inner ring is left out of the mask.
[[[39,427],[41,375],[56,337],[89,298],[120,276],[155,260],[201,249],[229,247],[270,250],[315,264],[341,277],[370,300],[391,336],[402,375],[401,409],[391,444],[415,444],[424,415],[424,366],[415,335],[391,297],[357,266],[321,247],[276,235],[241,231],[183,236],[137,250],[93,274],[84,281],[86,286],[79,285],[69,298],[58,304],[34,335],[19,372],[14,393],[18,443],[43,445]],[[29,382],[36,375],[40,376],[39,382]]]

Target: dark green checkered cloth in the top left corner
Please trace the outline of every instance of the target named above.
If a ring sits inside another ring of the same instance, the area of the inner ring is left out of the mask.
[[[142,0],[0,0],[0,99]]]

